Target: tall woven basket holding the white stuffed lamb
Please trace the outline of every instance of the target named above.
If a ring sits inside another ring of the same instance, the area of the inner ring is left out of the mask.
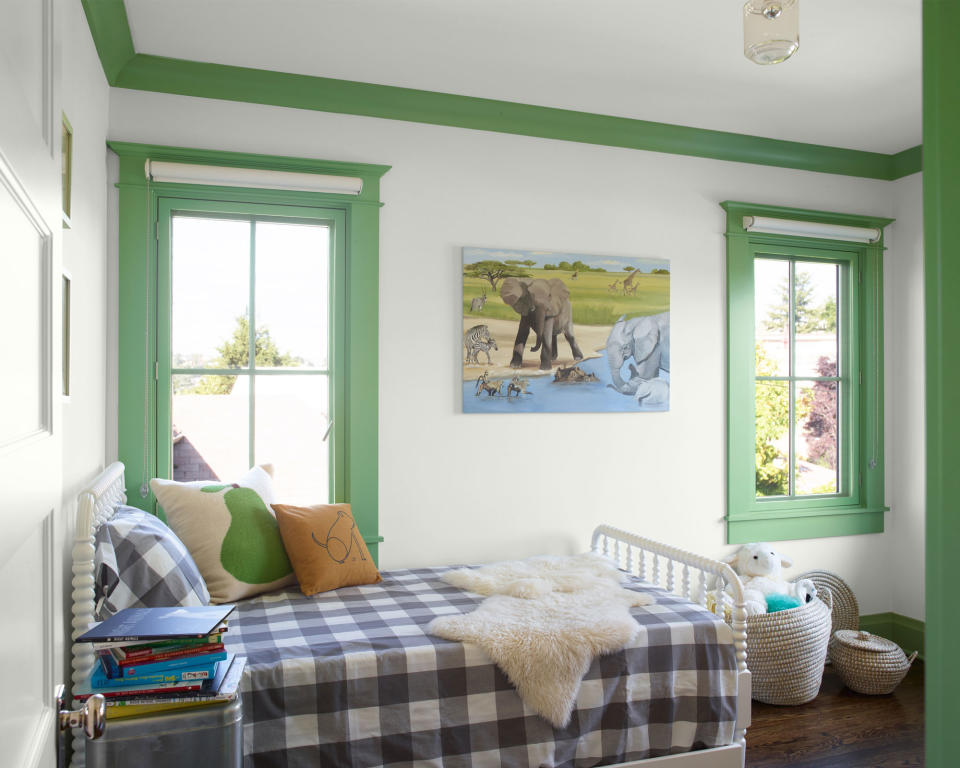
[[[747,618],[747,668],[753,698],[765,704],[813,701],[830,642],[829,588],[799,608]]]

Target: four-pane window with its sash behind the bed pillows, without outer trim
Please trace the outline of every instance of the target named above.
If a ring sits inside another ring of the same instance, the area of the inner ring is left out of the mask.
[[[342,317],[331,283],[343,268],[343,217],[269,210],[160,201],[159,293],[170,320],[158,336],[158,472],[229,480],[270,463],[278,498],[332,501],[339,462],[328,438],[341,384],[331,381],[331,329]]]

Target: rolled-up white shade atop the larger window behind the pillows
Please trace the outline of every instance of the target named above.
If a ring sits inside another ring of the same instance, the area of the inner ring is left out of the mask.
[[[320,173],[267,171],[260,168],[229,168],[219,165],[167,163],[147,160],[146,176],[151,181],[175,184],[208,184],[214,187],[254,187],[283,189],[290,192],[327,192],[359,195],[363,179],[352,176],[328,176]]]

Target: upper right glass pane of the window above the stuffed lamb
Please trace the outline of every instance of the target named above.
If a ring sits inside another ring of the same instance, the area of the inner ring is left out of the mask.
[[[795,376],[836,375],[839,274],[838,264],[796,262],[793,278]]]

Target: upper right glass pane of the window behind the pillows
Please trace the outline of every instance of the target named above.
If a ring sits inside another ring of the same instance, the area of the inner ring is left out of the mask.
[[[257,222],[257,367],[327,368],[330,229]]]

